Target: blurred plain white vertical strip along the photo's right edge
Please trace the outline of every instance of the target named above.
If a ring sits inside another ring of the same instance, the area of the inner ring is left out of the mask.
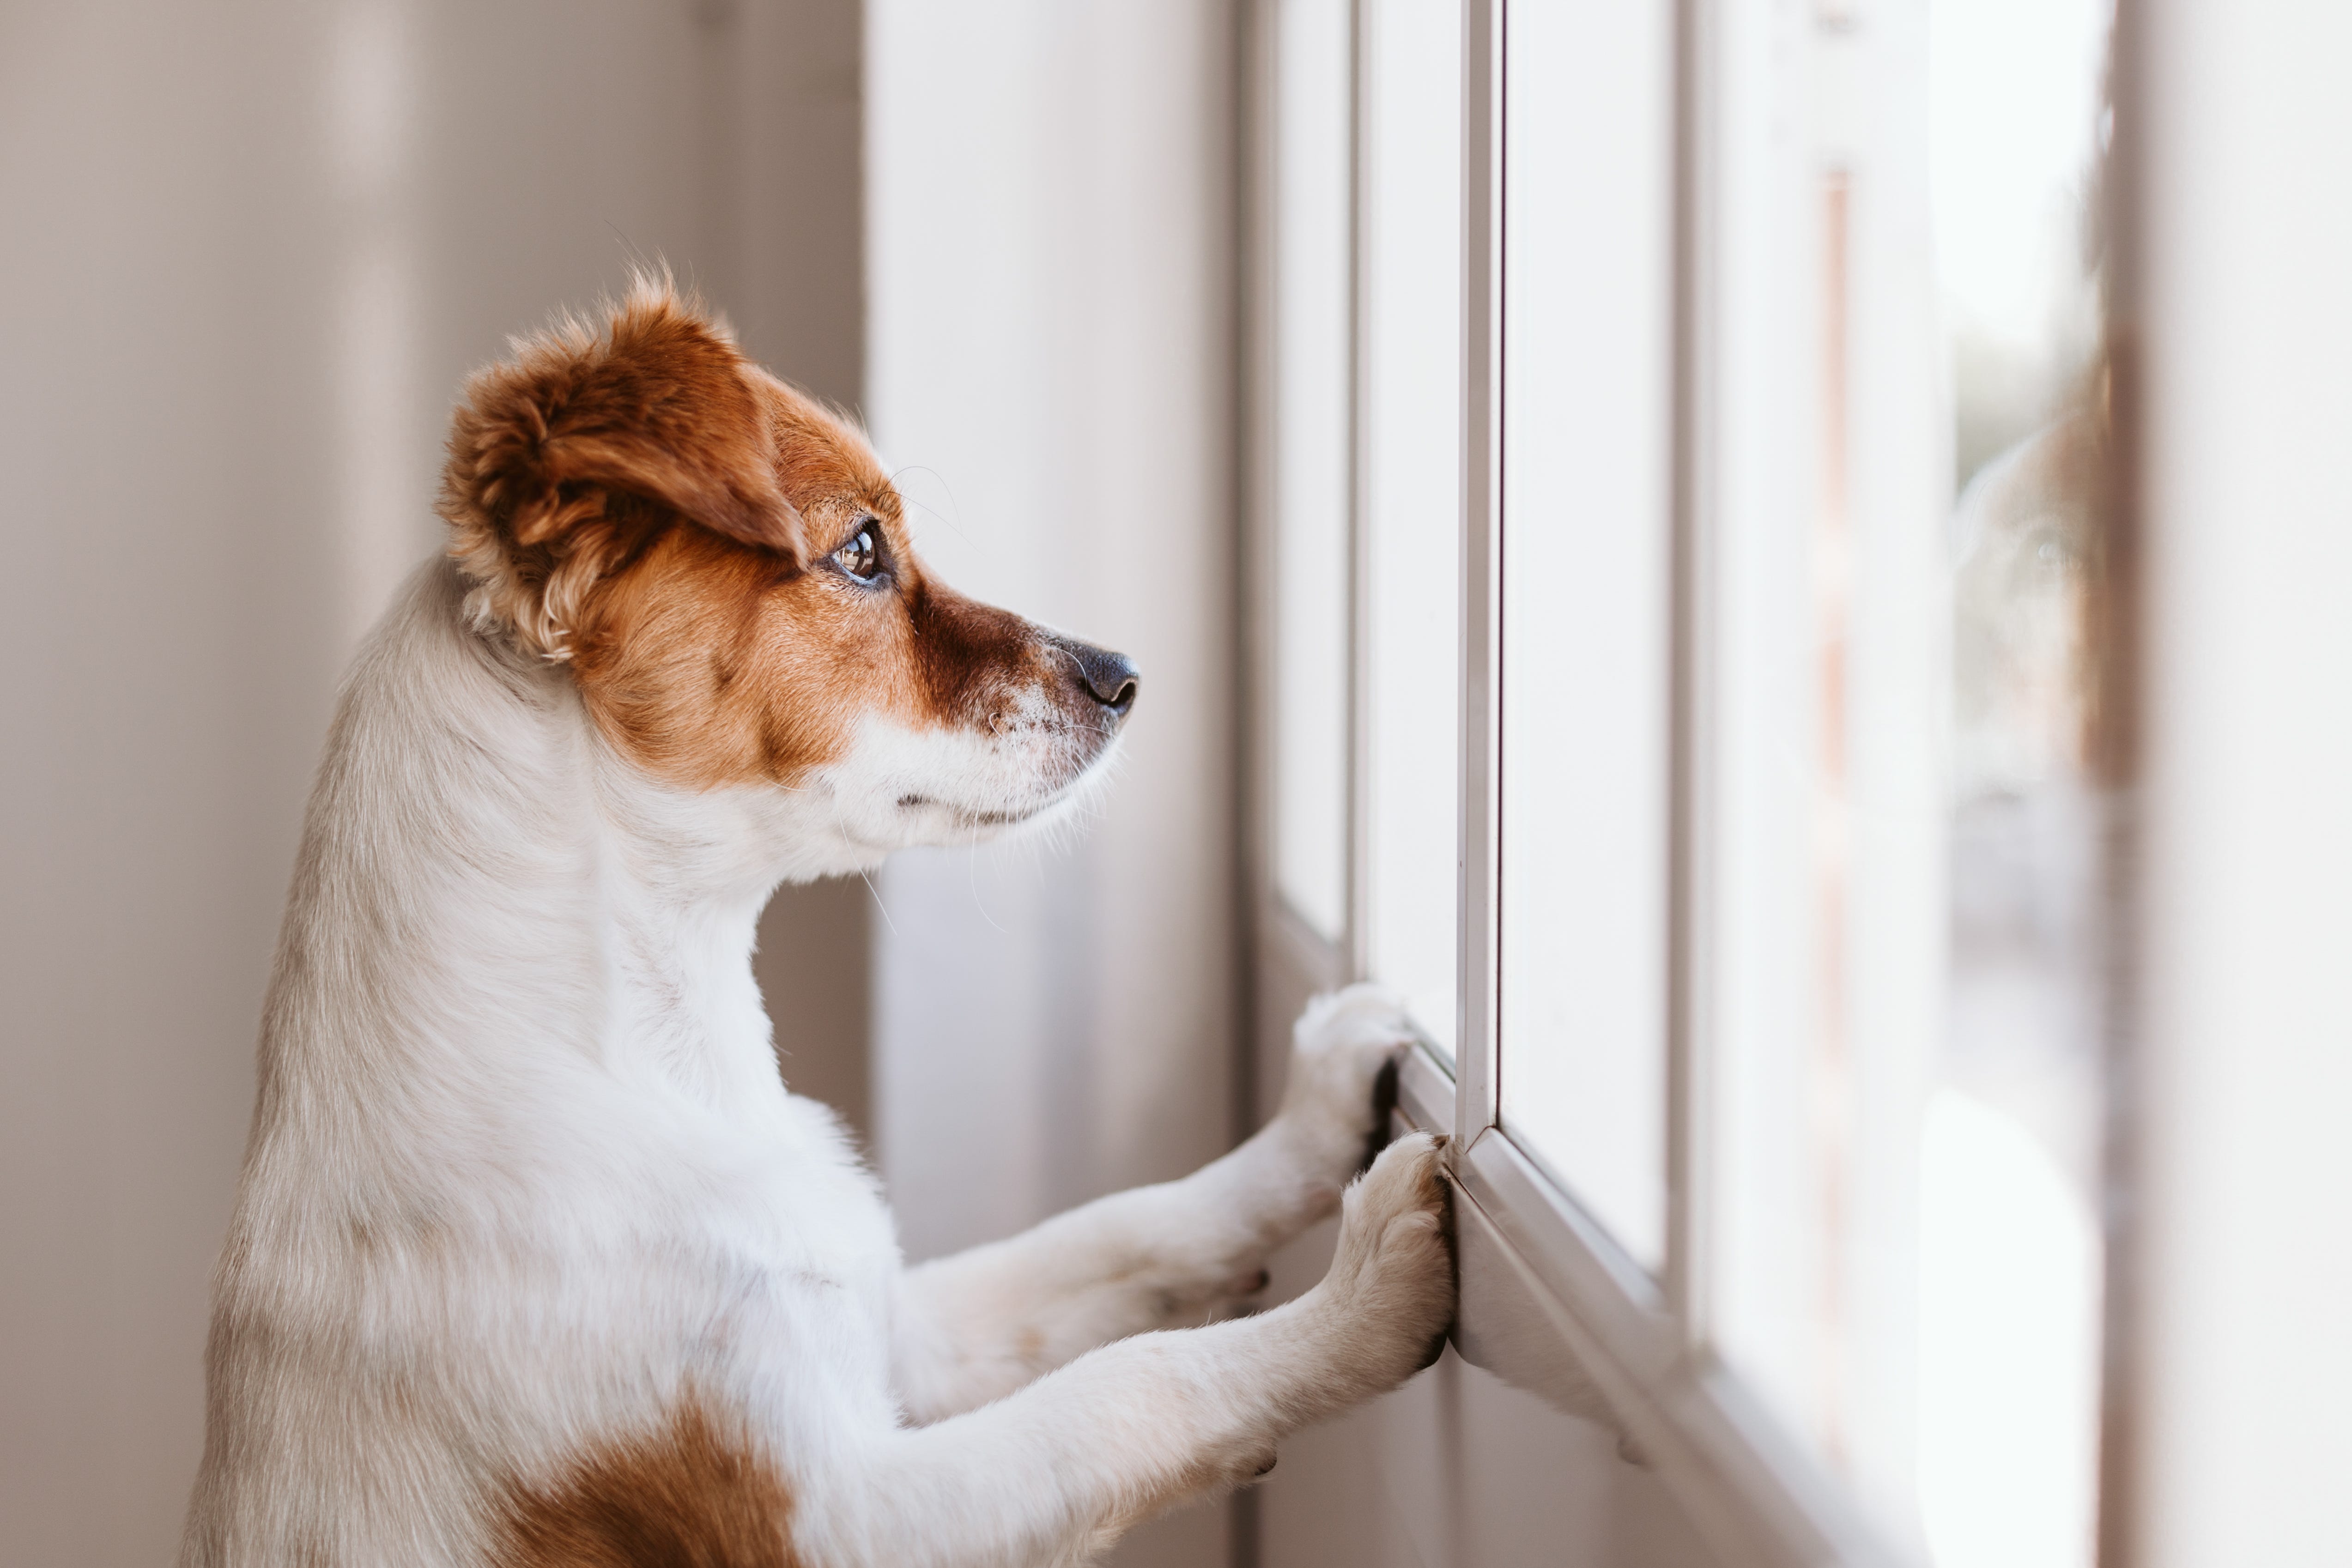
[[[2152,1568],[2352,1561],[2352,14],[2126,7],[2145,66]]]

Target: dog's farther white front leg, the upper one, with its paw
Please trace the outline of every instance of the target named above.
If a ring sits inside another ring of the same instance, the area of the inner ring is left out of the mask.
[[[1374,1081],[1406,1039],[1383,990],[1319,997],[1294,1030],[1282,1110],[1256,1138],[1183,1180],[910,1269],[894,1359],[915,1420],[988,1403],[1096,1345],[1256,1291],[1265,1255],[1331,1213],[1362,1164]]]

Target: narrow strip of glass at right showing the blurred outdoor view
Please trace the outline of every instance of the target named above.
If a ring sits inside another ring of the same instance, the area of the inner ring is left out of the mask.
[[[2105,0],[1936,5],[1952,364],[1947,1027],[1919,1143],[1938,1568],[2089,1568],[2098,1497]]]

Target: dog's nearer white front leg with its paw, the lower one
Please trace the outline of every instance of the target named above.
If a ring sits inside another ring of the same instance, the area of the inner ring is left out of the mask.
[[[1348,1190],[1319,1286],[1249,1319],[1148,1333],[969,1415],[889,1434],[802,1483],[804,1568],[1075,1563],[1247,1481],[1296,1427],[1428,1366],[1454,1312],[1439,1143],[1399,1138]]]

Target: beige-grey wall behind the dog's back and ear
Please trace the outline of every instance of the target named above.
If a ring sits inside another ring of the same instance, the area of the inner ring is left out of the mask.
[[[0,7],[0,1559],[174,1552],[296,818],[461,374],[666,254],[854,400],[856,92],[854,0]]]

